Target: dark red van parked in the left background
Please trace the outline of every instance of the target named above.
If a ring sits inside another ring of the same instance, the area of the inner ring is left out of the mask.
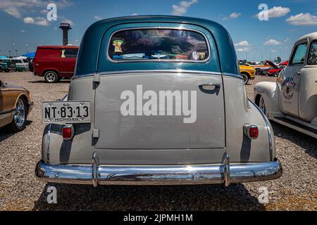
[[[33,60],[35,76],[44,77],[46,82],[56,83],[63,77],[73,77],[77,46],[39,46]]]

